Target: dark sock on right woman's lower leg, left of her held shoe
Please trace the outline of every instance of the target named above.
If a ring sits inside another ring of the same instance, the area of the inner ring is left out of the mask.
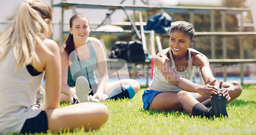
[[[205,107],[202,103],[197,103],[192,108],[192,113],[195,116],[210,117],[210,109]]]

